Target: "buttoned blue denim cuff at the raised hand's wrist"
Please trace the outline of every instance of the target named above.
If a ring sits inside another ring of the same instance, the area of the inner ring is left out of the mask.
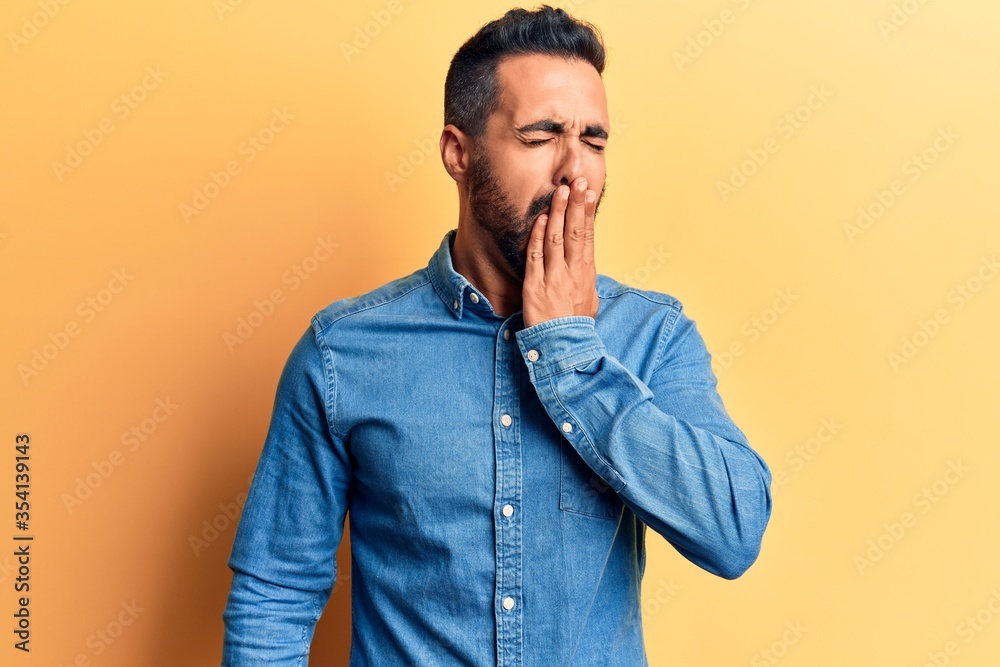
[[[593,317],[568,315],[539,322],[514,334],[532,382],[586,366],[606,350]]]

